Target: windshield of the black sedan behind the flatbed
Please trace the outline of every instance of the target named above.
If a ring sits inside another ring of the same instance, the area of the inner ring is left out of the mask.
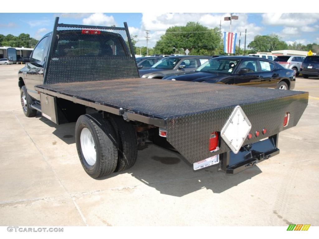
[[[198,67],[196,71],[231,74],[238,62],[236,59],[213,58]]]

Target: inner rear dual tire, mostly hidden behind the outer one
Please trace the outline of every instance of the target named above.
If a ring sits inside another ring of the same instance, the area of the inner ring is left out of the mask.
[[[118,161],[115,172],[127,170],[133,167],[137,159],[135,129],[132,124],[120,117],[110,118],[109,121],[115,129],[118,142]]]

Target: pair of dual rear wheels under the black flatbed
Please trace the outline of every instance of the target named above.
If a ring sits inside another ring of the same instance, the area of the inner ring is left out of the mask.
[[[75,127],[78,156],[93,178],[129,169],[137,158],[137,138],[132,124],[120,117],[81,115]]]

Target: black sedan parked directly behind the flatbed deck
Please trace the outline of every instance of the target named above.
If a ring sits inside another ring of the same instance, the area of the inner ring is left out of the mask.
[[[163,79],[234,85],[260,86],[292,90],[296,77],[293,70],[260,57],[223,56],[210,59],[197,70],[166,76]]]

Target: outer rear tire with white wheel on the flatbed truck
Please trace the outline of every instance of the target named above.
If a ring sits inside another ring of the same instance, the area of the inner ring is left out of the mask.
[[[115,132],[102,115],[81,115],[75,126],[78,156],[85,172],[99,178],[114,172],[117,165]]]

